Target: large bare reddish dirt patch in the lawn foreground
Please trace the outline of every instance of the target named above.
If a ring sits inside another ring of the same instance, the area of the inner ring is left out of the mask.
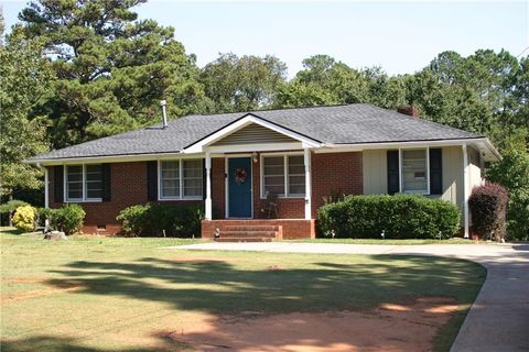
[[[415,298],[361,312],[210,317],[155,334],[198,351],[431,351],[455,310],[451,298]]]

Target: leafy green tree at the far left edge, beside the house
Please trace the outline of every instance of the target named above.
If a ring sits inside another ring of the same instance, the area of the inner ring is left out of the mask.
[[[13,34],[0,45],[0,195],[42,186],[41,172],[23,160],[48,148],[44,117],[28,118],[52,78],[42,43]]]

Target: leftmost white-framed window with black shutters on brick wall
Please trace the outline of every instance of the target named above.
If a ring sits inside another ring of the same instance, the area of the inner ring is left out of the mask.
[[[100,164],[66,166],[66,200],[101,200],[102,170]]]

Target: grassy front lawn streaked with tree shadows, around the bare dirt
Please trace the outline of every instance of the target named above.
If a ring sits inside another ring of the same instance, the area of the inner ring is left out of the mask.
[[[363,310],[450,296],[462,308],[435,339],[447,351],[486,276],[475,263],[436,257],[161,249],[191,242],[1,233],[2,351],[179,351],[185,346],[159,332],[195,315]]]

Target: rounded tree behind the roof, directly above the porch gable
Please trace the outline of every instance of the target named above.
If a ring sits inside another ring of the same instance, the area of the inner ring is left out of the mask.
[[[201,74],[215,112],[248,111],[270,106],[283,85],[287,66],[274,56],[222,54]]]

